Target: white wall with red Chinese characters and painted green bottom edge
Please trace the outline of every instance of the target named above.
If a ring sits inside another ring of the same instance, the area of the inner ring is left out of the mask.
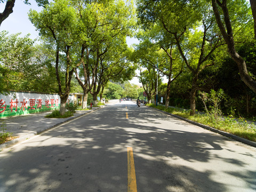
[[[68,102],[73,102],[73,95],[69,95]],[[0,94],[0,118],[38,113],[59,109],[60,96],[58,94],[39,94],[26,92],[10,92]]]

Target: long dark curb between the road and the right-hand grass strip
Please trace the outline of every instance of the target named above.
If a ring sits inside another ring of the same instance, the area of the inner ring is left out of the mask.
[[[147,106],[147,107],[149,107],[149,106]],[[197,122],[191,121],[191,120],[186,119],[186,118],[184,118],[184,117],[180,117],[180,116],[178,116],[178,115],[174,115],[174,114],[168,113],[168,112],[166,112],[166,111],[162,111],[162,110],[156,109],[156,108],[154,108],[154,107],[149,107],[149,108],[152,108],[152,109],[161,111],[161,112],[164,113],[164,114],[171,115],[171,116],[173,116],[173,117],[179,118],[179,119],[181,119],[181,120],[183,120],[183,121],[186,121],[186,122],[188,122],[188,123],[197,125],[197,126],[199,126],[199,127],[202,127],[202,128],[204,128],[204,129],[210,130],[210,131],[212,131],[212,132],[219,133],[219,134],[224,135],[224,136],[226,136],[226,137],[228,137],[228,138],[231,138],[231,139],[234,139],[234,140],[243,142],[243,143],[245,143],[245,144],[247,144],[247,145],[250,145],[250,146],[252,146],[252,147],[256,147],[256,142],[254,142],[254,141],[250,141],[250,140],[248,140],[248,139],[244,139],[244,138],[238,137],[237,135],[234,135],[234,134],[231,134],[231,133],[227,133],[227,132],[225,132],[225,131],[220,131],[220,130],[215,129],[215,128],[213,128],[213,127],[210,127],[210,126],[207,126],[207,125],[203,125],[203,124],[201,124],[201,123],[197,123]]]

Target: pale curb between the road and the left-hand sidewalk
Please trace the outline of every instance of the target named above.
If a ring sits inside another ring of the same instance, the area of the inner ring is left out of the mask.
[[[17,144],[17,143],[19,143],[19,142],[25,141],[25,140],[27,140],[27,139],[29,139],[29,138],[31,138],[31,137],[34,137],[35,135],[38,135],[38,134],[41,134],[41,133],[43,133],[43,132],[45,132],[45,131],[51,130],[51,129],[53,129],[54,127],[57,127],[57,126],[59,126],[59,125],[61,125],[61,124],[63,124],[63,123],[67,123],[67,122],[69,122],[69,121],[71,121],[71,120],[74,120],[74,119],[76,119],[76,118],[79,118],[79,117],[88,115],[88,114],[90,114],[90,113],[93,113],[95,110],[99,110],[99,109],[101,109],[101,108],[103,108],[103,107],[98,107],[98,108],[94,108],[94,109],[92,108],[92,110],[88,111],[88,112],[85,113],[85,114],[79,114],[79,115],[77,115],[77,116],[68,117],[68,118],[66,118],[66,119],[63,119],[62,122],[57,123],[57,124],[55,124],[55,125],[48,126],[48,127],[46,126],[44,129],[41,129],[41,130],[39,130],[39,131],[31,132],[31,133],[26,134],[26,135],[23,135],[23,136],[21,136],[21,137],[19,137],[19,138],[17,138],[17,139],[13,139],[13,140],[11,140],[11,141],[5,142],[5,143],[3,143],[3,144],[0,145],[0,151],[2,151],[2,150],[5,149],[5,148],[11,147],[12,145],[15,145],[15,144]]]

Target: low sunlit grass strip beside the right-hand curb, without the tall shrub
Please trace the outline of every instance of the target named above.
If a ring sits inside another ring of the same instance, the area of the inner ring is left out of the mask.
[[[212,118],[207,114],[205,115],[196,114],[195,116],[189,116],[189,110],[180,110],[178,108],[172,108],[172,107],[169,107],[166,109],[165,106],[155,106],[154,104],[150,104],[147,106],[153,107],[162,111],[166,111],[168,113],[190,119],[191,121],[201,123],[203,125],[207,125],[215,129],[237,135],[238,137],[256,142],[255,125],[251,125],[247,123],[245,119],[237,120],[235,118],[223,117],[223,118],[220,118],[219,121],[213,121]]]

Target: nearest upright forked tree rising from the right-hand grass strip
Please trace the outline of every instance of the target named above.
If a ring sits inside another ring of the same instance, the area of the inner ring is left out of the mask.
[[[217,33],[218,31],[215,30],[210,4],[207,1],[175,0],[150,1],[150,4],[142,0],[140,2],[138,6],[140,22],[145,27],[147,27],[148,23],[158,23],[158,25],[162,26],[163,30],[173,35],[182,59],[193,74],[190,91],[190,115],[194,115],[196,110],[196,91],[198,90],[198,74],[205,67],[213,64],[210,61],[211,55],[222,45]],[[143,12],[143,9],[147,11]],[[203,31],[196,29],[199,24],[202,25]],[[190,39],[185,39],[189,33]],[[192,45],[192,42],[194,45],[185,47],[182,43],[184,40],[187,40],[187,43],[185,42],[187,45],[189,45],[190,41],[190,45]],[[186,54],[186,52],[189,52],[189,54]]]

